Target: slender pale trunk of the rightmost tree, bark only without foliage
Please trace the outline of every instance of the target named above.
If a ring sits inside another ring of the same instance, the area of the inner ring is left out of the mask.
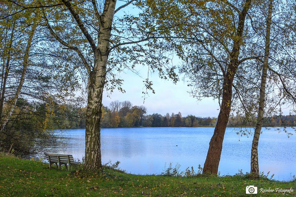
[[[251,173],[256,177],[259,176],[258,142],[259,142],[260,132],[261,132],[262,123],[263,123],[263,113],[264,113],[264,105],[265,105],[265,85],[266,85],[266,75],[267,75],[267,69],[268,69],[272,1],[273,0],[270,0],[269,6],[268,6],[268,18],[266,22],[266,36],[265,36],[265,52],[264,52],[264,61],[263,61],[261,87],[260,87],[260,102],[259,102],[259,109],[258,109],[257,124],[254,132],[252,150],[251,150]]]

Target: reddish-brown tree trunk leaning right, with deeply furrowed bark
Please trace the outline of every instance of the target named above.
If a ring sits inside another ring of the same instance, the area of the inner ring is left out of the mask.
[[[210,146],[207,152],[207,158],[205,160],[202,173],[218,173],[218,166],[221,158],[222,144],[224,134],[231,110],[231,97],[232,97],[232,83],[238,67],[239,50],[242,44],[242,36],[244,31],[244,21],[247,12],[250,8],[251,0],[246,0],[242,12],[239,13],[239,23],[237,26],[237,37],[241,39],[234,39],[232,51],[230,54],[230,62],[227,72],[223,79],[223,94],[221,109],[218,115],[217,125],[214,130],[214,134],[210,140]]]

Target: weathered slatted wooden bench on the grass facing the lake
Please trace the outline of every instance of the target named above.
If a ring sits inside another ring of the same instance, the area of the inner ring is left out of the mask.
[[[70,154],[47,154],[44,153],[47,161],[49,162],[49,169],[51,169],[52,164],[58,164],[57,167],[61,169],[61,165],[65,165],[67,168],[67,164],[69,165],[68,170],[70,171],[71,164],[79,164],[80,162],[75,162],[73,156]]]

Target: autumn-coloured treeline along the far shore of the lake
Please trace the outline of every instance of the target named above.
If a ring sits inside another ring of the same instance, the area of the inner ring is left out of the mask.
[[[67,105],[63,107],[63,115],[56,128],[85,128],[86,108],[75,108]],[[61,114],[61,113],[57,113]],[[66,118],[65,118],[66,117]],[[130,101],[112,101],[109,106],[102,107],[102,128],[118,127],[199,127],[215,126],[215,117],[197,117],[187,115],[182,117],[181,112],[147,114],[143,105],[132,105]],[[263,126],[296,126],[296,116],[265,118]],[[250,121],[245,123],[243,117],[235,116],[229,119],[228,126],[254,126]]]

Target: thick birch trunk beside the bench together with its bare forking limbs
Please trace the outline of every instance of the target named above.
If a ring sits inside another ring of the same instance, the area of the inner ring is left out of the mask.
[[[84,66],[89,74],[88,85],[88,99],[87,99],[87,111],[86,111],[86,128],[85,128],[85,162],[84,170],[99,170],[102,167],[101,156],[101,117],[102,117],[102,96],[104,90],[104,84],[106,79],[106,67],[109,56],[110,37],[112,30],[112,22],[115,11],[116,0],[105,0],[104,9],[100,15],[96,1],[91,1],[95,10],[96,18],[98,19],[98,44],[96,45],[91,34],[89,34],[87,28],[84,26],[79,14],[75,11],[74,7],[69,0],[62,0],[64,5],[71,13],[73,19],[77,22],[77,25],[86,40],[89,42],[91,50],[94,53],[94,65],[91,70],[91,66],[83,56],[83,53],[78,47],[66,43],[50,27],[49,22],[44,13],[46,26],[49,32],[57,39],[62,45],[69,49],[75,50],[78,56],[81,58]]]

